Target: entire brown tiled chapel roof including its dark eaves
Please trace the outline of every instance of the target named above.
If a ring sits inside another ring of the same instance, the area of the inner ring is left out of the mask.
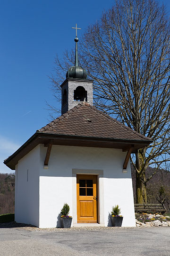
[[[4,164],[15,170],[18,161],[39,144],[119,148],[123,151],[131,147],[135,152],[151,142],[151,138],[128,128],[90,104],[81,102],[37,130]]]

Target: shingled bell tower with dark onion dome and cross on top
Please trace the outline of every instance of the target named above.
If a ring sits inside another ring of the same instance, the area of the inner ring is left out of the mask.
[[[78,65],[77,29],[75,65],[68,69],[66,80],[61,84],[61,115],[74,108],[79,102],[85,101],[93,105],[93,80],[88,80],[84,68]]]

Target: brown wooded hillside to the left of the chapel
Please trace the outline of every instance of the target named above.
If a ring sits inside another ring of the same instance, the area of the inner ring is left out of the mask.
[[[0,214],[14,213],[15,175],[0,174]]]

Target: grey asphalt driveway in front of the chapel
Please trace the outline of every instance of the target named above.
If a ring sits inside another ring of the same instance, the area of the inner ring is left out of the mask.
[[[0,229],[0,256],[170,256],[170,227]]]

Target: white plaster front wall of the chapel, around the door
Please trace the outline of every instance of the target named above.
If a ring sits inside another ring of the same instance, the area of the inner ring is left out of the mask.
[[[127,173],[122,172],[126,152],[120,149],[57,146],[53,145],[49,169],[43,169],[47,147],[40,145],[40,228],[60,226],[60,210],[65,202],[70,206],[70,215],[76,222],[76,176],[72,170],[103,170],[99,178],[100,219],[110,226],[110,211],[119,204],[124,216],[122,226],[135,226],[135,212],[130,164]],[[97,172],[97,171],[96,171]],[[81,173],[81,172],[80,172]],[[100,193],[102,193],[100,195]],[[103,200],[102,200],[103,198]]]

